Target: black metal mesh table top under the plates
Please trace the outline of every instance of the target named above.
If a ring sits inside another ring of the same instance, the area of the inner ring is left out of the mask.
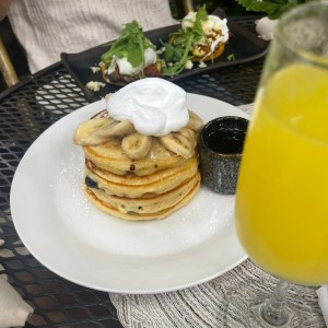
[[[254,31],[254,17],[236,19]],[[177,82],[187,92],[233,105],[251,103],[262,59]],[[121,327],[108,294],[74,284],[39,263],[20,241],[11,219],[10,188],[20,160],[34,140],[65,115],[87,104],[60,62],[0,94],[0,274],[35,309],[26,327]]]

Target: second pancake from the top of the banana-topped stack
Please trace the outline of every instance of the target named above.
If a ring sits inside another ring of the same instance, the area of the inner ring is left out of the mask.
[[[85,161],[85,175],[99,189],[108,195],[141,197],[148,194],[159,195],[171,190],[192,177],[198,171],[197,157],[188,159],[185,165],[156,171],[151,175],[137,176],[133,173],[116,175],[97,167],[90,160]]]

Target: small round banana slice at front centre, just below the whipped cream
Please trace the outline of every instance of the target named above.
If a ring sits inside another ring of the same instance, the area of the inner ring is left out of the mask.
[[[151,144],[152,137],[136,132],[122,139],[121,150],[129,159],[141,160],[147,156]]]

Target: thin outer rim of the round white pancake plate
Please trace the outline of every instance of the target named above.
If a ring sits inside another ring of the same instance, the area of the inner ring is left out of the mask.
[[[208,101],[214,101],[214,102],[219,102],[219,103],[224,103],[225,105],[229,105],[235,109],[237,109],[237,114],[239,114],[238,116],[243,116],[243,117],[246,117],[248,118],[249,116],[242,112],[241,109],[238,109],[237,107],[231,105],[231,104],[227,104],[225,102],[222,102],[222,101],[219,101],[216,98],[212,98],[212,97],[209,97],[209,96],[203,96],[203,95],[199,95],[199,94],[190,94],[188,93],[188,96],[189,97],[200,97],[202,99],[208,99]],[[96,102],[96,103],[101,103],[101,101]],[[89,104],[89,105],[85,105],[77,110],[87,110],[87,108],[92,105],[94,105],[95,103],[93,104]],[[74,110],[74,112],[77,112]],[[72,115],[74,112],[72,112],[71,114],[68,114],[67,116],[69,115]],[[65,116],[65,117],[67,117]],[[65,117],[62,119],[65,119]],[[83,286],[86,286],[86,288],[91,288],[91,289],[95,289],[95,290],[99,290],[99,291],[105,291],[105,292],[115,292],[115,293],[132,293],[132,294],[147,294],[147,293],[162,293],[162,292],[171,292],[171,291],[176,291],[176,290],[180,290],[180,289],[185,289],[185,288],[190,288],[192,285],[196,285],[196,284],[199,284],[199,283],[203,283],[206,281],[209,281],[215,277],[219,277],[223,273],[225,273],[226,271],[230,271],[231,269],[235,268],[236,266],[238,266],[241,262],[243,262],[244,260],[247,259],[247,255],[245,254],[245,251],[243,250],[243,256],[239,257],[239,259],[237,261],[234,261],[232,265],[230,265],[229,267],[226,267],[224,270],[221,270],[220,272],[216,272],[216,273],[213,273],[211,276],[207,276],[207,277],[203,277],[202,279],[198,279],[197,281],[194,281],[192,283],[190,282],[187,282],[185,284],[179,284],[179,285],[175,285],[175,286],[166,286],[166,288],[156,288],[156,289],[127,289],[127,290],[122,290],[122,289],[115,289],[113,286],[108,286],[108,288],[104,288],[104,286],[96,286],[94,283],[87,283],[87,282],[81,282],[81,280],[79,279],[75,279],[73,277],[71,277],[70,274],[67,274],[66,272],[61,272],[61,270],[59,270],[58,268],[56,268],[56,266],[54,267],[54,263],[50,263],[45,260],[40,255],[39,255],[39,251],[38,250],[35,250],[33,249],[33,246],[30,247],[30,243],[28,241],[25,239],[25,235],[24,235],[24,232],[22,232],[20,230],[20,220],[17,220],[16,218],[16,210],[15,210],[15,207],[16,207],[16,203],[14,203],[14,195],[16,192],[16,189],[17,189],[17,184],[19,184],[19,180],[17,180],[17,172],[20,172],[20,167],[22,167],[21,165],[24,165],[24,157],[25,155],[28,153],[28,151],[31,149],[33,149],[34,144],[36,142],[39,142],[37,140],[42,140],[42,138],[45,138],[45,137],[42,137],[44,136],[44,133],[47,132],[47,130],[49,129],[54,129],[54,126],[58,127],[60,126],[60,120],[59,119],[57,122],[55,122],[52,126],[50,126],[48,129],[46,129],[35,141],[34,143],[28,148],[28,150],[25,152],[23,159],[21,160],[17,168],[16,168],[16,172],[14,174],[14,177],[13,177],[13,181],[12,181],[12,188],[11,188],[11,194],[10,194],[10,207],[11,207],[11,212],[12,212],[12,220],[13,220],[13,224],[16,229],[16,232],[17,232],[17,235],[19,237],[21,238],[21,241],[23,242],[24,246],[28,249],[28,251],[38,260],[40,261],[40,263],[43,263],[46,268],[48,268],[49,270],[51,270],[52,272],[55,272],[56,274],[69,280],[69,281],[72,281],[74,283],[78,283],[80,285],[83,285]],[[40,138],[40,139],[39,139]],[[28,154],[26,155],[28,156]],[[22,163],[22,164],[21,164]],[[164,219],[165,220],[165,219]],[[241,247],[241,246],[239,246]]]

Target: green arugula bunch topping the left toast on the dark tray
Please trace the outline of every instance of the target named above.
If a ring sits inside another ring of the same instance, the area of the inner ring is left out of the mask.
[[[102,55],[101,60],[108,66],[115,55],[117,58],[126,57],[132,67],[138,67],[144,65],[144,49],[147,48],[155,49],[155,46],[145,38],[138,22],[132,21],[125,25],[120,37],[107,52]]]

